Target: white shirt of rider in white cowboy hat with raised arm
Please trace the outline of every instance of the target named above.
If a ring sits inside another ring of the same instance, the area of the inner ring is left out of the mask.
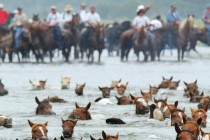
[[[137,27],[142,27],[150,23],[150,20],[147,16],[136,16],[133,20],[133,25]]]

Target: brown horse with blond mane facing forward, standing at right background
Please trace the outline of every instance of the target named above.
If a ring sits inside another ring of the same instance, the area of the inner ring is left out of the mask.
[[[179,25],[179,31],[178,31],[178,40],[177,40],[177,49],[178,49],[178,61],[180,59],[184,59],[184,53],[187,50],[189,37],[190,37],[190,31],[191,28],[194,26],[194,17],[188,16],[186,20],[181,22]]]

